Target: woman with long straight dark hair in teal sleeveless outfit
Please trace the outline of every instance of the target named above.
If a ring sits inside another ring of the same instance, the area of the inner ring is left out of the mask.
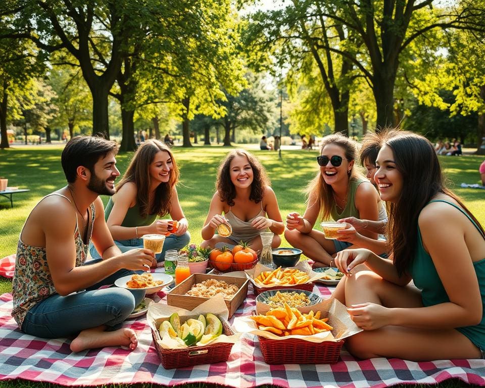
[[[483,358],[485,232],[444,187],[427,139],[405,131],[380,136],[374,180],[391,203],[393,261],[364,249],[337,254],[347,277],[334,296],[363,329],[348,349],[360,358]],[[369,270],[354,273],[357,265]]]

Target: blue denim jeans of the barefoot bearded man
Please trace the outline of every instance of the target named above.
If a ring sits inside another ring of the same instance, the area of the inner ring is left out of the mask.
[[[84,265],[98,261],[92,260]],[[22,331],[42,338],[60,338],[101,325],[108,326],[108,330],[120,328],[135,306],[143,300],[144,290],[98,288],[133,273],[123,269],[85,290],[65,297],[55,294],[40,301],[28,311]]]

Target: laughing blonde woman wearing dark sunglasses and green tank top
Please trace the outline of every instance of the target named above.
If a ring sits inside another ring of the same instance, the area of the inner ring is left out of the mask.
[[[354,168],[355,141],[335,133],[325,136],[320,147],[320,170],[306,190],[307,209],[303,216],[288,214],[284,232],[288,243],[312,259],[314,267],[331,265],[336,252],[352,246],[346,241],[327,239],[323,232],[313,229],[317,218],[377,220],[380,201],[375,187]],[[363,230],[362,235],[377,238],[377,233],[368,230]]]

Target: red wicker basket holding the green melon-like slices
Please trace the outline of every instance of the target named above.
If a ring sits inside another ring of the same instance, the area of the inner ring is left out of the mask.
[[[229,323],[222,320],[223,333],[234,334]],[[158,330],[152,328],[153,341],[158,356],[165,369],[179,368],[199,364],[214,364],[225,362],[229,358],[232,345],[228,343],[209,344],[207,346],[191,346],[184,349],[163,349],[157,341],[161,341]]]

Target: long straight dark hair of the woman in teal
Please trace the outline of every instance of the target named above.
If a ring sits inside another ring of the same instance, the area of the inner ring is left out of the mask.
[[[402,174],[403,188],[399,200],[390,204],[387,223],[389,244],[399,274],[409,268],[418,241],[418,217],[437,193],[453,198],[483,232],[478,220],[451,190],[444,186],[443,175],[433,145],[425,137],[407,131],[383,132],[381,144],[394,154],[396,168]]]

